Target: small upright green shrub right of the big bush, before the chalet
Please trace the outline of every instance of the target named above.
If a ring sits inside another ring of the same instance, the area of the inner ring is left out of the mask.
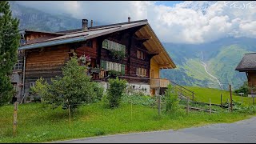
[[[126,83],[125,79],[110,78],[110,87],[107,89],[107,99],[109,101],[110,108],[118,107],[121,100],[122,94],[124,94],[126,90]]]

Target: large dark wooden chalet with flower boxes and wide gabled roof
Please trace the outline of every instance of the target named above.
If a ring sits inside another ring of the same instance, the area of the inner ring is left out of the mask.
[[[147,20],[130,22],[128,18],[128,22],[106,26],[93,26],[91,21],[88,26],[88,20],[82,19],[81,29],[54,33],[21,30],[20,34],[19,61],[12,79],[19,102],[38,78],[62,75],[62,66],[74,53],[78,58],[90,58],[89,74],[105,88],[110,71],[115,70],[134,89],[153,95],[169,84],[160,78],[159,70],[176,67]],[[120,53],[124,53],[122,58],[113,56]]]

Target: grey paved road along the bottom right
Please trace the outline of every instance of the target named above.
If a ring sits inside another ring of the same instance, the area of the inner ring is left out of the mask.
[[[228,143],[256,142],[256,117],[230,124],[214,124],[182,130],[118,134],[62,143]]]

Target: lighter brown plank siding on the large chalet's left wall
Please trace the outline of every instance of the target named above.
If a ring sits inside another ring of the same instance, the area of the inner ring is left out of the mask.
[[[26,90],[30,89],[30,82],[38,78],[54,78],[62,75],[62,67],[69,60],[70,48],[66,46],[46,47],[26,52]]]

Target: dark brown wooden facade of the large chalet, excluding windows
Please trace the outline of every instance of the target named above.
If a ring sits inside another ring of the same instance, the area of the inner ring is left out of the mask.
[[[92,59],[92,67],[101,65],[101,60],[108,62],[116,62],[125,65],[125,74],[120,78],[125,78],[128,82],[145,83],[150,84],[150,58],[152,56],[148,54],[146,48],[142,45],[142,42],[138,41],[138,38],[130,31],[122,31],[114,34],[108,34],[106,36],[92,38],[86,42],[77,42],[67,45],[49,46],[40,49],[26,50],[26,81],[25,90],[30,89],[30,86],[38,78],[45,78],[50,81],[50,78],[62,75],[62,67],[65,65],[72,56],[72,50],[78,55],[89,55]],[[38,35],[29,35],[30,40],[38,38]],[[126,46],[126,57],[122,60],[115,60],[110,57],[110,50],[102,48],[102,42],[104,39],[108,39],[113,42]],[[145,59],[137,58],[137,50],[143,51]],[[136,68],[141,67],[146,69],[146,77],[139,77],[136,75]],[[102,81],[107,81],[102,79]]]

